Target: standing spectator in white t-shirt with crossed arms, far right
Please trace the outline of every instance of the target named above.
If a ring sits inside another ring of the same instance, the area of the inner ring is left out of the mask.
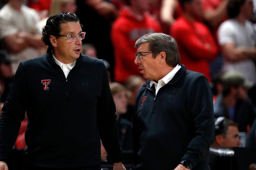
[[[255,86],[256,24],[249,21],[253,17],[253,0],[229,0],[227,13],[230,19],[218,30],[225,59],[223,71],[237,70]]]

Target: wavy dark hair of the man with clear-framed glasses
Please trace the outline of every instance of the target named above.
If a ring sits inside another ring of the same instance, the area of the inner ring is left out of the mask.
[[[58,38],[59,32],[61,31],[61,24],[67,22],[79,22],[78,17],[71,13],[71,12],[60,12],[58,14],[50,16],[47,21],[46,25],[42,31],[42,41],[45,45],[48,45],[50,48],[53,48],[50,42],[50,35],[53,35]],[[81,28],[83,25],[80,23]]]

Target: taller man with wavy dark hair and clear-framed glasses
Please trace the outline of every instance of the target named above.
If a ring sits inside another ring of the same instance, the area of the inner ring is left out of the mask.
[[[47,54],[20,63],[0,119],[1,170],[25,111],[25,169],[99,170],[100,138],[114,169],[125,169],[107,70],[81,54],[81,26],[69,12],[50,16],[42,32]]]

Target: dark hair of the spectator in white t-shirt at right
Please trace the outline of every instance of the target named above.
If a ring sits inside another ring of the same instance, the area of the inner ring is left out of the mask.
[[[240,13],[240,7],[243,6],[245,0],[229,0],[227,4],[227,14],[229,18],[235,18]]]

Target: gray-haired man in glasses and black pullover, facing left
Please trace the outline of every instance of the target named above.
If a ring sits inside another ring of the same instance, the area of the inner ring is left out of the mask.
[[[201,73],[179,65],[176,41],[163,33],[139,38],[135,63],[144,78],[134,115],[135,169],[209,169],[213,97]]]

